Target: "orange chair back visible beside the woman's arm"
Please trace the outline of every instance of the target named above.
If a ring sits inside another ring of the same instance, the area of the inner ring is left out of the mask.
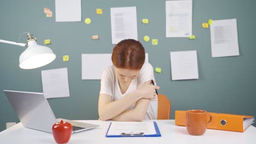
[[[158,119],[170,119],[171,102],[164,94],[158,94]]]

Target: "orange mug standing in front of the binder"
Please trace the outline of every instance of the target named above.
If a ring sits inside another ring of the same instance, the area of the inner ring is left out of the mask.
[[[207,122],[207,115],[210,116]],[[203,135],[206,125],[212,121],[212,116],[205,110],[186,111],[186,127],[190,135]]]

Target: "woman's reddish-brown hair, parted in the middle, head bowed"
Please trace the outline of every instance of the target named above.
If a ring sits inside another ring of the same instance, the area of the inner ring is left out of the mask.
[[[117,68],[139,70],[145,62],[145,50],[139,41],[121,40],[112,52],[112,62]]]

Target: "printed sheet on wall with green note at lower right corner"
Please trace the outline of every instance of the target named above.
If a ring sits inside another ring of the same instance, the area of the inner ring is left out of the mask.
[[[166,37],[192,35],[192,0],[165,1]]]

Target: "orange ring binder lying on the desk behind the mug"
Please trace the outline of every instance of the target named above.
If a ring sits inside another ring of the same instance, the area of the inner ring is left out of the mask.
[[[253,116],[214,112],[207,113],[212,116],[212,121],[207,124],[207,129],[243,132],[254,123]],[[175,125],[186,126],[186,111],[175,111]]]

